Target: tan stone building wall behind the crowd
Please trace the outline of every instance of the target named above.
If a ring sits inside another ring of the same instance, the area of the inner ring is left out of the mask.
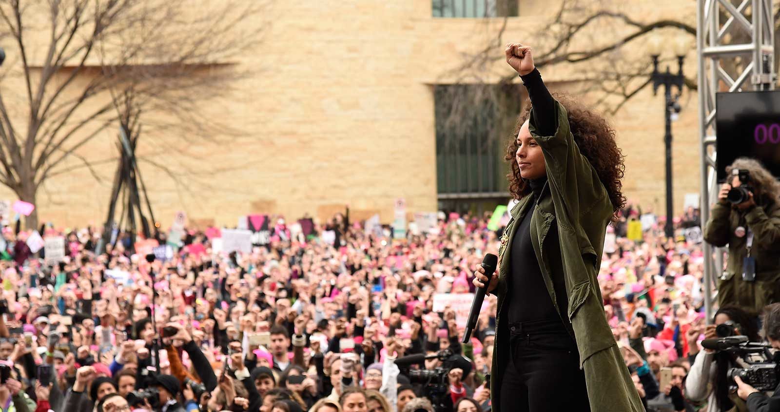
[[[663,12],[693,22],[695,15],[693,2],[684,9],[675,9],[678,2],[644,0],[615,7],[637,18]],[[530,35],[553,11],[548,2],[521,2],[523,16],[509,20],[504,38],[532,42]],[[158,143],[165,130],[143,138],[142,156],[196,171],[179,176],[186,189],[141,163],[158,220],[168,226],[174,212],[184,210],[201,222],[235,225],[238,215],[250,212],[298,218],[330,215],[349,204],[360,217],[380,212],[390,222],[396,197],[406,198],[409,211],[436,210],[431,85],[451,80],[449,70],[464,53],[482,47],[501,20],[433,19],[427,0],[287,0],[277,2],[272,14],[261,46],[239,62],[254,76],[237,85],[229,103],[205,113],[244,136],[229,144],[166,139],[163,148]],[[496,76],[508,70],[496,62]],[[555,84],[577,73],[558,67],[544,76]],[[612,118],[626,154],[626,192],[642,204],[657,204],[657,211],[665,198],[662,101],[662,94],[643,92]],[[688,95],[682,104],[674,124],[677,210],[684,194],[699,191],[697,98]],[[110,131],[80,154],[106,159],[115,150]],[[113,162],[97,168],[102,183],[84,168],[52,179],[38,195],[41,221],[103,222],[114,169]],[[0,197],[12,197],[2,190]]]

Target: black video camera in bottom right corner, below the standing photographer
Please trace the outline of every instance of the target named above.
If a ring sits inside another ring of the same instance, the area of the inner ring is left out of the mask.
[[[704,349],[733,353],[742,368],[729,368],[729,383],[736,386],[734,378],[739,376],[746,384],[760,391],[775,390],[778,386],[778,358],[780,352],[771,353],[771,346],[765,343],[749,342],[747,336],[728,336],[719,339],[704,339]]]

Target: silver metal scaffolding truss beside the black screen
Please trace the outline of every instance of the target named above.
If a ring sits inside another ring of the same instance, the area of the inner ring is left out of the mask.
[[[748,7],[750,5],[750,7]],[[725,17],[725,23],[721,23]],[[772,0],[697,0],[699,63],[699,137],[701,154],[701,222],[710,218],[718,194],[715,167],[715,94],[774,90],[775,22]],[[704,231],[704,228],[702,228]],[[717,279],[723,271],[722,250],[703,243],[704,310],[712,321]],[[715,252],[715,253],[714,253]]]

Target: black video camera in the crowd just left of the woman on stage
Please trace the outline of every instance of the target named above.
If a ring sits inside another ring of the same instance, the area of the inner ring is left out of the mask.
[[[441,367],[435,369],[411,369],[413,364],[422,364],[426,359],[438,359]],[[409,377],[414,385],[421,385],[423,395],[431,400],[436,412],[452,410],[452,399],[449,396],[449,371],[454,368],[463,368],[463,363],[470,364],[465,357],[452,353],[452,350],[441,350],[434,355],[423,354],[410,355],[395,360],[403,375]],[[466,378],[464,375],[463,378]],[[450,403],[446,403],[450,400]]]

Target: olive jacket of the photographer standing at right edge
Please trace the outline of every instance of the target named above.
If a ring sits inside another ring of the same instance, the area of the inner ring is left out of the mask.
[[[743,260],[747,256],[747,236],[736,236],[738,226],[753,233],[750,256],[756,259],[756,280],[742,279]],[[780,204],[765,201],[749,211],[732,210],[731,205],[715,204],[704,228],[704,240],[714,246],[729,245],[729,264],[718,276],[718,302],[737,304],[761,313],[761,309],[780,301]]]

